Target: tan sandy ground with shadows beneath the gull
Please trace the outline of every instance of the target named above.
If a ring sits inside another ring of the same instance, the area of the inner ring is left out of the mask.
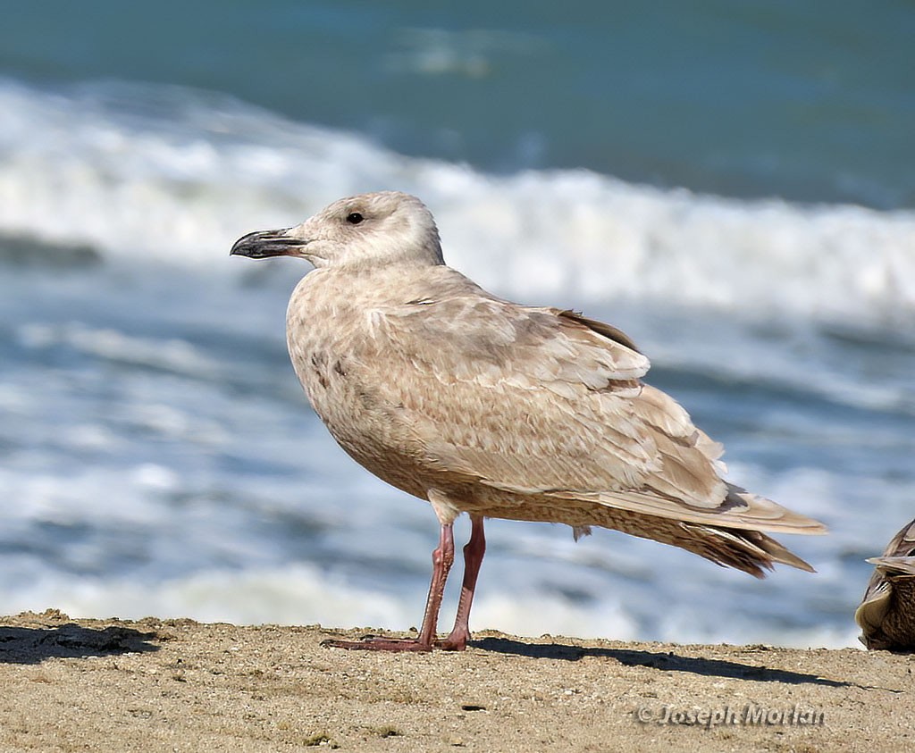
[[[373,629],[0,619],[4,751],[901,750],[910,656],[516,638],[322,647]]]

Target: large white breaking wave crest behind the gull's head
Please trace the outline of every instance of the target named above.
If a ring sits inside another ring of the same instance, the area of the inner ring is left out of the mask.
[[[451,264],[521,299],[877,326],[915,313],[907,211],[724,199],[587,170],[495,176],[176,87],[0,81],[0,107],[0,232],[110,260],[242,274],[224,256],[243,232],[397,188],[434,211]]]

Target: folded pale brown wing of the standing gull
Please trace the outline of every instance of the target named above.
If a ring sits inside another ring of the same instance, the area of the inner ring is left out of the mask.
[[[386,397],[410,417],[428,468],[677,521],[825,531],[722,480],[722,447],[640,382],[649,361],[617,328],[476,291],[373,315],[393,346],[377,354],[397,374]]]

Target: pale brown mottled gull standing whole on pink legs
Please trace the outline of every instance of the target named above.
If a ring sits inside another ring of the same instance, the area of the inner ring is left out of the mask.
[[[619,329],[573,311],[492,296],[442,259],[419,199],[385,191],[340,199],[287,230],[245,235],[231,253],[297,256],[286,338],[330,434],[441,524],[417,640],[343,648],[463,649],[485,551],[484,518],[603,526],[679,546],[763,577],[812,570],[764,531],[823,525],[721,479],[722,447],[672,398],[640,381],[649,361]],[[467,512],[454,629],[436,619]]]

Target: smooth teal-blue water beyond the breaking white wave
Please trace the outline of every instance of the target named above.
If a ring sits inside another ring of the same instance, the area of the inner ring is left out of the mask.
[[[29,81],[220,91],[486,172],[915,203],[904,2],[57,0],[4,27],[0,69]]]

